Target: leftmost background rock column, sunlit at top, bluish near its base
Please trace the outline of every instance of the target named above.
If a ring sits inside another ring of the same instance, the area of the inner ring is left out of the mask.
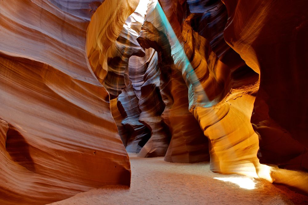
[[[118,129],[126,130],[126,139],[123,136],[126,150],[135,153],[139,153],[150,138],[149,129],[139,121],[140,109],[138,107],[140,88],[144,83],[143,76],[147,69],[145,61],[149,57],[149,55],[145,56],[145,51],[136,40],[144,20],[144,14],[140,14],[142,6],[147,5],[144,5],[144,2],[138,5],[136,11],[126,20],[118,40],[114,43],[115,49],[108,50],[110,56],[116,55],[116,57],[108,60],[108,73],[104,81],[112,98],[121,93],[117,98],[117,109],[122,115]],[[149,54],[149,51],[146,53]],[[119,81],[122,85],[117,83]],[[115,108],[114,111],[117,112]],[[118,116],[117,113],[114,115]]]

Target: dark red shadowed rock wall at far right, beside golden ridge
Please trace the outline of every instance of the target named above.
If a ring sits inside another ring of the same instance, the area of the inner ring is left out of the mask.
[[[308,171],[307,2],[224,3],[230,16],[225,40],[260,73],[251,117],[260,139],[258,158]]]

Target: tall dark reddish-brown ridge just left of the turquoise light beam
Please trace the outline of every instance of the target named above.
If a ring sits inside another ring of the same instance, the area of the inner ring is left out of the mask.
[[[148,18],[155,19],[155,13],[156,8],[147,13],[137,40],[142,47],[152,47],[158,53],[160,94],[165,104],[161,118],[171,134],[165,161],[193,163],[209,160],[208,141],[188,111],[188,89],[181,73],[174,68],[167,36],[147,21]]]

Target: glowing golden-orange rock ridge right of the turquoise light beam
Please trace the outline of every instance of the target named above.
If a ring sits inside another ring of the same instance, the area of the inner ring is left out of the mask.
[[[184,72],[194,91],[190,109],[210,139],[211,170],[256,176],[258,138],[249,118],[258,76],[223,40],[225,6],[188,6],[182,35],[191,65]]]

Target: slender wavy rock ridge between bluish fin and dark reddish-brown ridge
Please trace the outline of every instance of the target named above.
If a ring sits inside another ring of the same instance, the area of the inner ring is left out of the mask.
[[[140,150],[139,157],[164,157],[169,143],[170,133],[164,123],[161,114],[165,104],[160,94],[160,72],[157,62],[157,52],[151,51],[147,62],[148,68],[144,74],[144,83],[140,88],[139,109],[141,110],[139,121],[151,130],[151,138]]]

